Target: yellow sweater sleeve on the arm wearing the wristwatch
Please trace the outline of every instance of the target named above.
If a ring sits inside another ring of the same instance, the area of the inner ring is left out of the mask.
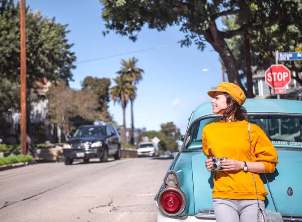
[[[278,153],[263,130],[256,126],[257,141],[255,144],[256,162],[265,166],[263,173],[273,173],[278,162]]]

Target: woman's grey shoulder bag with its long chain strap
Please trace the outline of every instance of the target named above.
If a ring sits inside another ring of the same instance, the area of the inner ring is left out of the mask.
[[[249,123],[248,132],[249,132],[249,142],[250,142],[250,162],[252,162],[251,123]],[[262,221],[263,222],[283,222],[282,215],[279,212],[278,207],[277,207],[277,205],[275,203],[275,199],[274,199],[274,196],[273,196],[272,191],[270,189],[269,182],[268,182],[268,179],[266,177],[266,174],[264,174],[264,176],[265,176],[265,179],[266,179],[266,182],[267,182],[267,187],[268,187],[268,190],[269,190],[269,194],[272,197],[272,201],[273,201],[273,204],[274,204],[276,212],[272,211],[272,210],[262,209],[260,207],[259,197],[258,197],[258,191],[257,191],[257,184],[256,184],[254,173],[252,173],[252,176],[253,176],[254,183],[255,183],[257,203],[258,203],[257,222],[260,222],[260,212],[262,214],[262,219],[263,219]]]

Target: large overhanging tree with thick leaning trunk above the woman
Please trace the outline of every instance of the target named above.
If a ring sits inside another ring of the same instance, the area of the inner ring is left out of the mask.
[[[124,1],[99,0],[103,5],[102,18],[106,22],[104,34],[114,30],[133,41],[137,33],[147,24],[150,29],[164,31],[169,26],[181,26],[185,33],[181,46],[190,46],[193,42],[200,50],[205,42],[217,51],[228,72],[230,82],[239,85],[247,97],[252,97],[241,82],[234,54],[225,39],[245,35],[248,31],[263,30],[276,23],[287,27],[294,21],[301,23],[302,3],[297,0],[217,0],[217,1]],[[220,31],[216,20],[223,16],[237,15],[242,22],[240,28]]]

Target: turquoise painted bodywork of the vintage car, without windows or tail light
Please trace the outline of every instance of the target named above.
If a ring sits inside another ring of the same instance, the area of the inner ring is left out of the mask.
[[[247,99],[244,107],[246,107],[249,115],[302,116],[302,101]],[[212,210],[213,172],[208,172],[205,169],[206,156],[202,151],[202,142],[194,141],[189,145],[189,149],[185,150],[188,130],[201,118],[217,116],[212,114],[211,111],[212,105],[205,103],[198,106],[191,114],[182,150],[174,158],[167,171],[167,174],[170,171],[176,173],[179,180],[179,188],[186,195],[187,206],[181,214],[174,217],[166,216],[159,211],[158,222],[215,221]],[[302,208],[298,204],[302,199],[302,187],[300,186],[302,183],[302,143],[297,142],[297,144],[294,144],[293,142],[288,142],[282,144],[282,142],[279,142],[277,144],[278,142],[272,141],[278,152],[279,164],[277,164],[275,172],[267,174],[267,177],[279,211],[285,217],[293,216],[302,221]],[[261,179],[265,184],[265,189],[268,191],[264,175],[261,175]],[[159,192],[162,189],[163,185]],[[292,195],[289,195],[289,190],[292,190]],[[158,199],[158,194],[155,200]],[[266,197],[265,204],[267,209],[274,210],[274,205],[269,194]],[[201,219],[201,217],[198,217],[201,210],[211,211],[212,215],[208,219]]]

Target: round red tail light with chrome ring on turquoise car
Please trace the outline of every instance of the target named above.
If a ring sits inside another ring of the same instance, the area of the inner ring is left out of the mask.
[[[166,215],[180,214],[185,207],[185,195],[176,188],[165,188],[159,195],[158,205]]]

